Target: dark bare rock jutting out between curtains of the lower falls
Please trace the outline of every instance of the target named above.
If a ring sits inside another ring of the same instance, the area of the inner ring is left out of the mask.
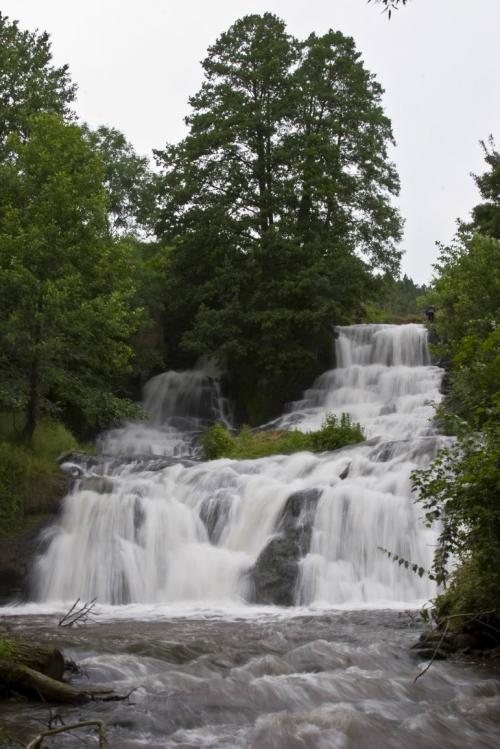
[[[299,561],[311,545],[319,489],[292,494],[278,520],[276,535],[249,571],[253,603],[293,606]]]

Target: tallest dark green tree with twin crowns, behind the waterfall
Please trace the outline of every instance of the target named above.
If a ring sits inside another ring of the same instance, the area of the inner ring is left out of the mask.
[[[392,133],[338,32],[300,43],[276,16],[246,16],[203,68],[189,134],[157,152],[168,343],[177,361],[225,358],[257,420],[324,367],[370,270],[398,267]]]

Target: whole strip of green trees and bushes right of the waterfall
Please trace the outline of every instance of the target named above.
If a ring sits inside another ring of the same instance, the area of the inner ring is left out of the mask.
[[[483,202],[442,248],[427,294],[435,353],[450,366],[438,418],[456,442],[414,477],[427,522],[441,527],[433,571],[445,589],[434,616],[473,630],[481,647],[500,642],[500,154],[491,140],[485,156]]]

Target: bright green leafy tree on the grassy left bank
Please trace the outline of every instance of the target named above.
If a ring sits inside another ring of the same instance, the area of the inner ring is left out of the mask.
[[[0,165],[2,405],[77,415],[80,432],[116,420],[140,311],[126,251],[106,224],[104,168],[81,129],[52,114],[11,135]]]

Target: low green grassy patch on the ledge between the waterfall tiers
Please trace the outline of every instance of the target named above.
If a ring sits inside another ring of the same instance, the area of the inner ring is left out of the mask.
[[[246,460],[290,455],[304,450],[327,452],[364,439],[360,425],[352,422],[348,414],[342,414],[340,418],[328,414],[321,429],[315,432],[300,432],[298,429],[251,432],[244,427],[238,435],[234,435],[222,424],[215,424],[203,436],[203,456],[206,460]]]

